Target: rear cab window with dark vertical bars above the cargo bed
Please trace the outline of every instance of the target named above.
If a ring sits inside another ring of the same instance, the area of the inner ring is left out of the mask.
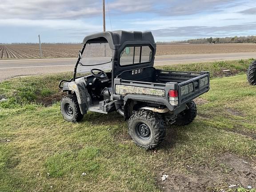
[[[149,46],[128,46],[121,52],[120,65],[142,64],[152,60],[152,49]]]

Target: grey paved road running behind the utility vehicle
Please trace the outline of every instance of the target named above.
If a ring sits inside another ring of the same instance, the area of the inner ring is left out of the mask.
[[[155,65],[184,64],[215,60],[240,60],[248,58],[256,58],[256,52],[156,56]],[[88,60],[96,63],[103,61],[102,58],[89,58]],[[75,58],[0,60],[0,81],[15,76],[73,71],[75,63]],[[93,67],[84,67],[85,71],[89,71],[91,68]],[[107,69],[110,68],[110,64],[104,64],[98,66],[98,68]]]

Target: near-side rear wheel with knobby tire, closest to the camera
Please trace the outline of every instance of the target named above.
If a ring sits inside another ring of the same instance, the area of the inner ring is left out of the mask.
[[[136,111],[128,120],[128,134],[139,147],[156,148],[165,136],[164,120],[152,111]]]

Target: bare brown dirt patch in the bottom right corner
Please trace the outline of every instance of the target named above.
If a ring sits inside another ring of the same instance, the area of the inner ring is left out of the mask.
[[[236,187],[252,186],[256,188],[256,167],[248,160],[226,153],[210,164],[200,162],[184,165],[188,174],[172,170],[158,172],[157,183],[165,192],[212,192],[228,189],[231,184]],[[168,175],[165,181],[163,174]]]

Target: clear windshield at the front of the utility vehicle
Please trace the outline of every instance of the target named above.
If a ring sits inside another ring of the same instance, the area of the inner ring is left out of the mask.
[[[112,67],[112,50],[108,43],[86,44],[77,72],[84,74],[92,68],[110,69]]]

